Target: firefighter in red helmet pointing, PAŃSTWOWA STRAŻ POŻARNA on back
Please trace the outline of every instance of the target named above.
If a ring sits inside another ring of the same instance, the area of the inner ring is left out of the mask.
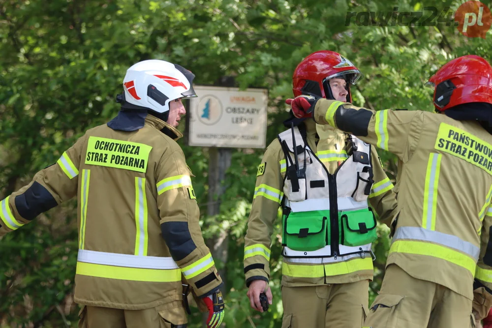
[[[480,320],[492,304],[492,68],[463,56],[430,83],[441,114],[288,100],[297,116],[314,113],[400,159],[386,274],[366,320],[373,328],[470,327],[472,311]]]

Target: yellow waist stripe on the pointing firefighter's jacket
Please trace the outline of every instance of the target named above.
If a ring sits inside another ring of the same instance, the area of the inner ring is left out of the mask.
[[[474,259],[445,246],[425,241],[397,240],[391,245],[389,254],[395,252],[436,257],[465,268],[472,275],[475,274],[476,262]]]

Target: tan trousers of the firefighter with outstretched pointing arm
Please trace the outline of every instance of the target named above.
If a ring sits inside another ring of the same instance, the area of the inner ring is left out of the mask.
[[[434,282],[413,278],[396,264],[391,264],[386,268],[381,292],[371,304],[365,326],[475,327],[471,304],[471,299]]]

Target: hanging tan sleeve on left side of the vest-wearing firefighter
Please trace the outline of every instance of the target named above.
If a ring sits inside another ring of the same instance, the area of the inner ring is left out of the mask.
[[[283,179],[280,173],[282,150],[275,140],[267,148],[258,166],[253,203],[245,237],[244,270],[246,286],[253,280],[270,278],[270,246],[274,222],[283,197]]]

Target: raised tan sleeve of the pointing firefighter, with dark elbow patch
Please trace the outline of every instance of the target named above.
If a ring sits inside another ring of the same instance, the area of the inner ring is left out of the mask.
[[[351,133],[406,162],[417,148],[424,113],[390,109],[375,112],[350,103],[320,98],[314,109],[314,120]]]

